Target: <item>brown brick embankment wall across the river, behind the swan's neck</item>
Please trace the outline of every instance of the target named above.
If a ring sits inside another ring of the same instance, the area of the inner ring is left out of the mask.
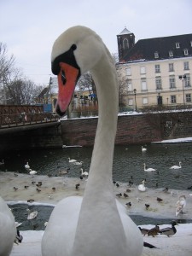
[[[61,121],[65,145],[92,146],[97,118]],[[115,144],[152,143],[163,139],[192,137],[192,112],[119,115]]]

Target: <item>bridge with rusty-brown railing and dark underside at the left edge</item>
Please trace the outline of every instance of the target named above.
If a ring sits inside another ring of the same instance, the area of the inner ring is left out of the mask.
[[[61,123],[40,106],[0,105],[0,156],[7,151],[62,146]]]

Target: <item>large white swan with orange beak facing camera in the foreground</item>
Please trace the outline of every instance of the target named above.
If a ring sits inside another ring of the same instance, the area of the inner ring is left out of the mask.
[[[58,75],[57,113],[63,114],[80,73],[90,70],[96,83],[99,119],[84,198],[67,197],[54,208],[44,231],[45,256],[136,256],[143,236],[113,195],[113,147],[118,115],[118,85],[113,59],[95,32],[74,26],[52,49]],[[50,243],[51,241],[51,243]]]

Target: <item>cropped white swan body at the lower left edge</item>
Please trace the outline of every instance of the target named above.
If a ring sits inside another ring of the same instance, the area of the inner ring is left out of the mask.
[[[16,236],[15,218],[0,197],[0,255],[9,255]]]

